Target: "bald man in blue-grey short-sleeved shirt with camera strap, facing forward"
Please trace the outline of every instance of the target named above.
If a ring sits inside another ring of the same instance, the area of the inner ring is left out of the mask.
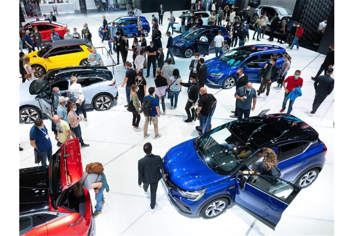
[[[250,117],[251,109],[252,111],[255,110],[257,102],[257,92],[252,88],[252,83],[248,82],[245,86],[239,87],[236,90],[235,98],[239,99],[237,103],[237,119],[242,119],[242,116],[244,118]]]

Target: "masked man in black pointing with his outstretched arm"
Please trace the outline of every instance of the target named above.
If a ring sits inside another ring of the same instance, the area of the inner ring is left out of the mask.
[[[188,100],[187,103],[185,104],[184,110],[187,113],[188,119],[185,120],[184,122],[192,122],[195,120],[195,103],[198,100],[199,97],[199,84],[197,80],[197,75],[192,74],[189,76],[190,79],[188,83],[183,83],[181,81],[176,82],[176,85],[182,85],[183,87],[187,87],[188,90]],[[192,108],[193,107],[193,108]],[[191,109],[192,108],[192,109]],[[190,113],[192,111],[192,114]]]

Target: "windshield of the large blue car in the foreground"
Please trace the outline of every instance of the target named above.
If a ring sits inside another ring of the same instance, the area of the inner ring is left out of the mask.
[[[236,136],[237,133],[240,133],[239,129],[232,122],[226,123],[196,139],[194,148],[200,159],[214,172],[230,175],[253,153],[253,150]]]

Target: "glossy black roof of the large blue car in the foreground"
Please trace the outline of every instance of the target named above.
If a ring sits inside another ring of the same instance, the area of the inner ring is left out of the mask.
[[[313,141],[318,133],[304,121],[289,114],[268,114],[233,121],[235,133],[253,150],[282,142],[305,139]]]

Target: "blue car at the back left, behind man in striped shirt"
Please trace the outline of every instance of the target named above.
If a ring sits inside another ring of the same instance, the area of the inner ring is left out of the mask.
[[[149,22],[146,20],[145,17],[140,16],[140,19],[143,22],[143,30],[142,33],[145,34],[145,37],[149,35],[150,33],[150,24]],[[112,22],[108,23],[108,32],[110,32],[110,28],[112,27],[112,23],[115,22],[116,23],[116,27],[118,27],[120,25],[120,23],[123,22],[123,30],[124,30],[124,34],[127,34],[128,37],[131,37],[133,33],[138,34],[138,30],[136,28],[137,26],[137,22],[138,22],[138,17],[137,16],[121,16],[118,17],[117,19],[115,19]],[[98,29],[98,35],[99,37],[102,39],[103,37],[103,25],[101,25],[101,27],[99,27]],[[114,37],[115,35],[113,35]],[[104,39],[107,39],[107,37],[105,37]]]

